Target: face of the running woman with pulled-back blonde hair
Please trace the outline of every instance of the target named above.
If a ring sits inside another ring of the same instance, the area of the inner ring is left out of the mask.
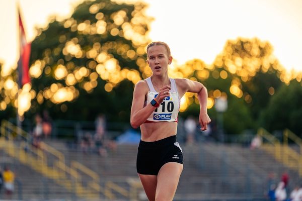
[[[168,71],[168,64],[171,63],[172,57],[168,56],[168,52],[163,45],[155,45],[148,49],[148,64],[153,74],[163,74]]]

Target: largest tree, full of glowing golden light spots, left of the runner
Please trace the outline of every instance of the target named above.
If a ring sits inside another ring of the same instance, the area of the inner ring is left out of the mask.
[[[52,19],[32,42],[31,116],[128,121],[133,84],[144,75],[150,18],[142,3],[86,1],[62,22]],[[140,72],[140,71],[141,72]]]

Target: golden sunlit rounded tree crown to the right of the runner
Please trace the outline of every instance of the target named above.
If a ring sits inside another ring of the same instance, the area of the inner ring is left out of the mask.
[[[267,107],[274,90],[283,83],[279,77],[285,69],[272,52],[272,46],[266,41],[239,38],[228,41],[215,61],[217,67],[223,67],[233,77],[230,92],[251,107],[254,121]]]

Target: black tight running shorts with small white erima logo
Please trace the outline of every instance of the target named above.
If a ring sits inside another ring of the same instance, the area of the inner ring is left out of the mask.
[[[182,149],[176,135],[155,142],[139,142],[136,170],[139,174],[158,175],[168,162],[184,163]]]

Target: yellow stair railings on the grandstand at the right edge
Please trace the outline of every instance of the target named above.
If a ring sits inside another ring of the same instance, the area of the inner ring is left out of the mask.
[[[302,140],[300,140],[293,133],[286,131],[283,133],[283,144],[281,144],[275,136],[273,136],[263,128],[260,128],[258,130],[257,135],[262,138],[262,141],[268,142],[262,144],[261,147],[264,150],[271,153],[276,160],[282,162],[287,167],[297,170],[299,175],[302,176],[301,154],[297,153],[288,146],[288,138],[298,142],[300,149],[302,146]]]

